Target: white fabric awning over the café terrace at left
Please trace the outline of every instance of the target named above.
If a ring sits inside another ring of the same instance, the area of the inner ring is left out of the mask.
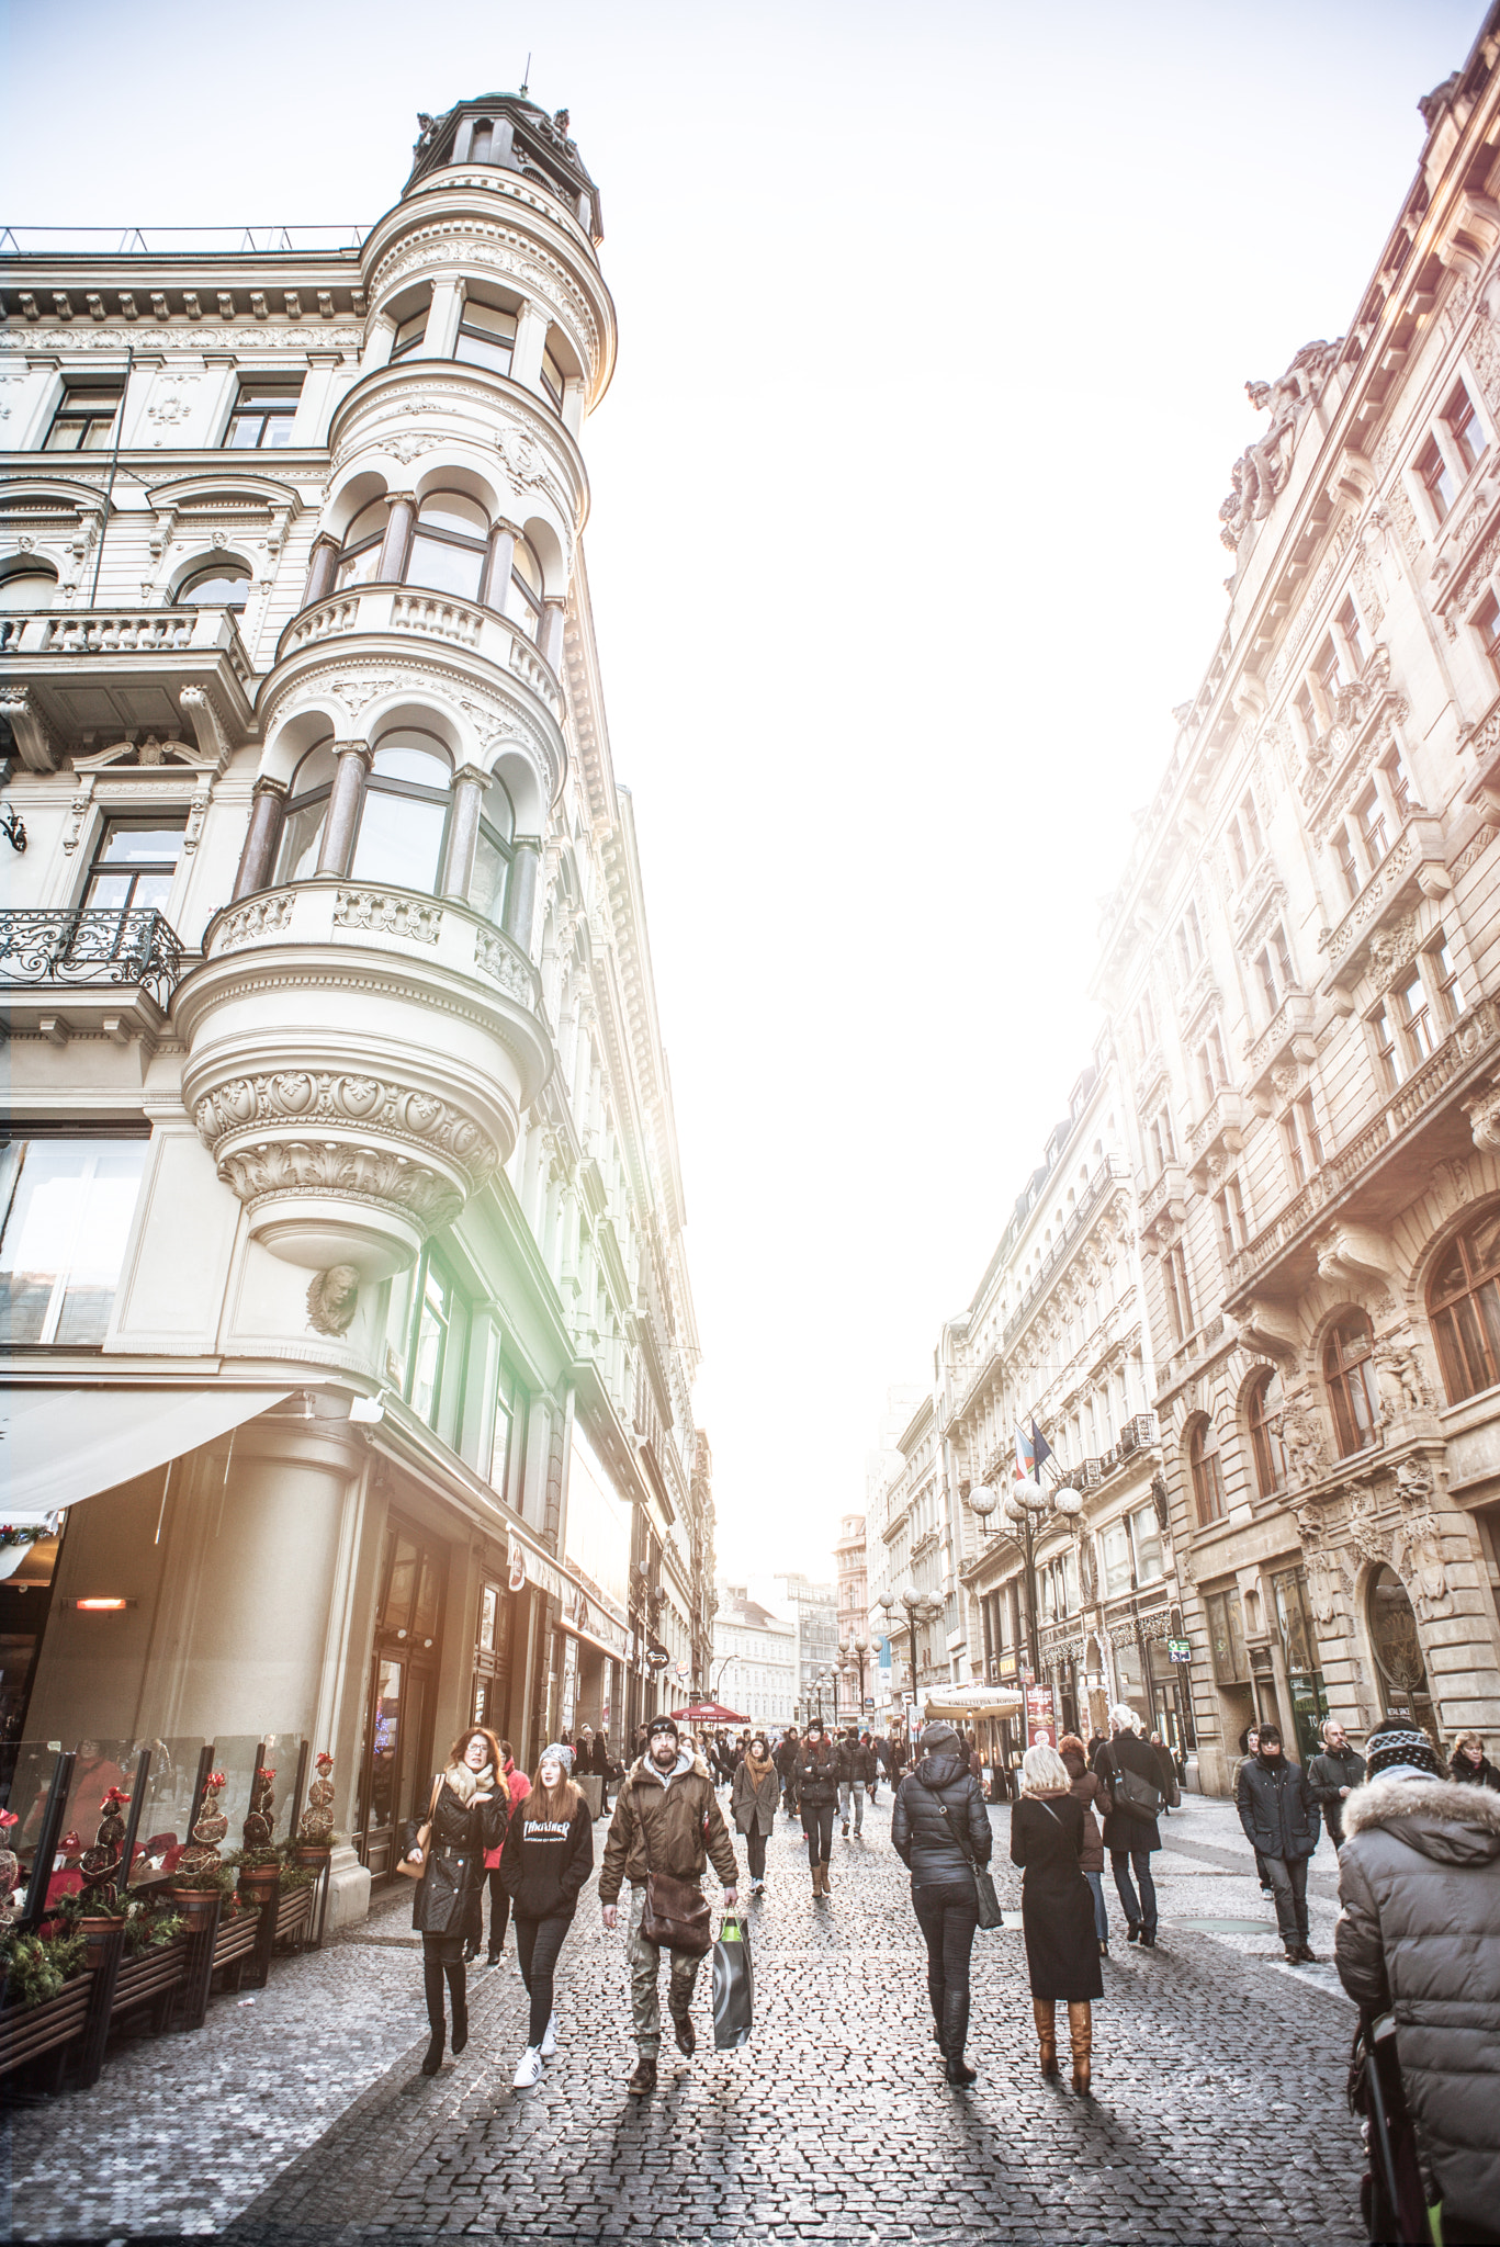
[[[43,1521],[101,1490],[133,1483],[290,1389],[11,1389],[0,1398],[0,1517]]]

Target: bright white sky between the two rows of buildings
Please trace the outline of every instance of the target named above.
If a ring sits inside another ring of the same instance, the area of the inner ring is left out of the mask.
[[[587,431],[720,1566],[828,1575],[1084,1067],[1208,663],[1244,382],[1347,326],[1480,0],[29,0],[0,218],[373,220],[416,110],[571,110]]]

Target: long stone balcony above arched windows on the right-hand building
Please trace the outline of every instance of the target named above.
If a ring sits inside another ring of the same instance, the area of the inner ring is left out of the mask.
[[[1500,1002],[1482,1000],[1271,1225],[1230,1256],[1228,1312],[1239,1317],[1253,1297],[1307,1288],[1318,1274],[1316,1243],[1334,1220],[1390,1229],[1433,1164],[1471,1155],[1496,1106],[1491,1097],[1484,1119],[1471,1121],[1473,1094],[1489,1088],[1498,1063]]]

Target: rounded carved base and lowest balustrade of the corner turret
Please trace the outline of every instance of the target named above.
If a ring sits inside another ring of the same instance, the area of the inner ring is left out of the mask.
[[[173,1000],[182,1101],[274,1256],[412,1263],[515,1146],[551,1070],[537,973],[452,899],[358,881],[209,921]]]

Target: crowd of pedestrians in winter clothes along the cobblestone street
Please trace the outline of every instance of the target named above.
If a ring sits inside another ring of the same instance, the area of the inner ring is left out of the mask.
[[[535,1780],[517,1771],[510,1741],[484,1726],[461,1732],[432,1780],[425,1816],[405,1836],[430,2022],[423,2074],[436,2074],[445,2049],[466,2049],[466,1968],[484,1944],[488,1892],[486,1966],[499,1964],[513,1921],[528,1993],[513,2081],[517,2090],[540,2083],[558,2049],[558,1957],[594,1870],[594,1822],[609,1816],[598,1899],[607,1930],[618,1926],[625,1899],[636,2045],[627,2090],[648,2096],[661,2052],[663,1950],[672,2038],[684,2056],[697,2045],[693,1998],[711,1946],[702,1883],[713,1867],[724,1905],[738,1903],[731,1825],[744,1838],[751,1896],[760,1896],[776,1811],[801,1820],[812,1899],[823,1905],[832,1899],[834,1818],[846,1840],[861,1843],[866,1798],[877,1798],[882,1777],[895,1789],[891,1843],[909,1870],[927,1948],[933,2043],[947,2081],[967,2087],[976,2081],[967,2058],[972,1944],[981,1926],[999,1919],[974,1739],[947,1721],[929,1723],[920,1748],[897,1730],[875,1737],[850,1726],[834,1737],[821,1717],[801,1735],[787,1726],[778,1739],[749,1728],[738,1739],[717,1732],[702,1753],[672,1717],[654,1717],[639,1730],[627,1768],[609,1757],[600,1732],[582,1726],[578,1741],[564,1737],[542,1750]],[[729,1791],[729,1822],[720,1789]],[[1142,1737],[1127,1705],[1109,1712],[1109,1735],[1084,1744],[1066,1732],[1057,1748],[1034,1744],[1021,1759],[1010,1861],[1021,1870],[1037,2060],[1046,2078],[1059,2074],[1064,2004],[1079,2096],[1093,2090],[1093,2004],[1104,1995],[1109,1957],[1104,1856],[1127,1941],[1156,1948],[1151,1856],[1163,1845],[1160,1818],[1178,1804],[1172,1755]],[[1424,1730],[1390,1717],[1361,1753],[1329,1719],[1320,1750],[1302,1768],[1277,1726],[1262,1721],[1241,1737],[1235,1807],[1289,1964],[1316,1957],[1307,1876],[1322,1827],[1336,1849],[1336,1968],[1361,2009],[1365,2065],[1383,2081],[1381,2128],[1406,2128],[1410,2141],[1403,2175],[1415,2200],[1406,2213],[1381,2198],[1383,2171],[1372,2157],[1370,2236],[1417,2236],[1410,2227],[1442,2202],[1446,2247],[1496,2243],[1500,1771],[1484,1741],[1462,1732],[1444,1762]],[[1399,2177],[1392,2189],[1401,2191]]]

